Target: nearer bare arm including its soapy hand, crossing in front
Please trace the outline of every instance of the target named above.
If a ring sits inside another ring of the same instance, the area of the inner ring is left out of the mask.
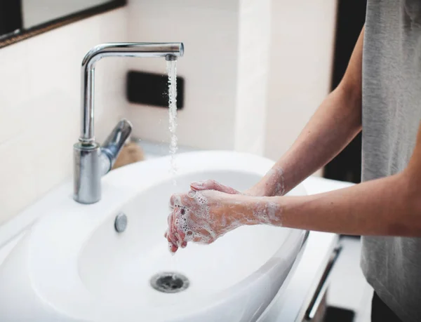
[[[245,224],[421,237],[421,123],[408,167],[390,177],[311,196],[193,191],[174,195],[171,205],[174,210],[168,217],[166,237],[172,251],[187,246],[188,241],[212,243]]]

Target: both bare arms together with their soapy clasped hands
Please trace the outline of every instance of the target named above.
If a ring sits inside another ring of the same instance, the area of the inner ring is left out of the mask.
[[[172,250],[190,240],[211,243],[243,224],[421,237],[421,123],[415,150],[401,173],[324,194],[281,196],[330,161],[361,130],[362,39],[363,30],[341,85],[319,107],[293,147],[253,187],[261,194],[248,196],[217,182],[204,182],[192,184],[193,197],[176,196],[180,203],[173,203],[166,234]],[[171,222],[187,222],[187,227],[179,229]]]

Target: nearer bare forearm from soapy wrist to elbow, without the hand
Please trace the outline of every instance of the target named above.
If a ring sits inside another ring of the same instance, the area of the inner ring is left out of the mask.
[[[254,222],[248,220],[252,224],[337,234],[421,237],[421,203],[410,187],[410,177],[398,174],[311,196],[248,197],[243,213],[246,218],[255,218]]]

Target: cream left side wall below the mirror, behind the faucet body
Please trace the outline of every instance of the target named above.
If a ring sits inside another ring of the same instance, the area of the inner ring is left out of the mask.
[[[81,60],[98,43],[124,41],[125,21],[119,8],[0,49],[0,224],[71,177]],[[125,64],[98,62],[98,139],[124,114]]]

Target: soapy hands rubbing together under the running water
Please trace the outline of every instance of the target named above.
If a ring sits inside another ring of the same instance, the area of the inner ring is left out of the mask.
[[[257,223],[250,222],[244,214],[246,200],[242,199],[247,197],[234,197],[232,194],[239,192],[222,185],[218,189],[224,192],[194,189],[187,194],[171,196],[173,211],[168,216],[168,230],[165,234],[171,252],[174,253],[180,247],[185,248],[189,241],[213,243],[243,224]]]

